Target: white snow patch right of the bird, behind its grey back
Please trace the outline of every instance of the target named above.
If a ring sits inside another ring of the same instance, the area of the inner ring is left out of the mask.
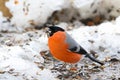
[[[118,59],[120,58],[120,55],[117,53],[117,51],[120,50],[120,27],[114,25],[113,23],[107,22],[102,23],[97,27],[94,26],[74,29],[70,32],[70,34],[88,51],[91,49],[98,51],[97,53],[101,57],[101,59],[99,58],[100,60],[104,60],[105,57],[112,55],[117,55]],[[94,43],[90,43],[89,40],[94,41]],[[105,48],[105,51],[102,53],[99,50],[100,46]]]

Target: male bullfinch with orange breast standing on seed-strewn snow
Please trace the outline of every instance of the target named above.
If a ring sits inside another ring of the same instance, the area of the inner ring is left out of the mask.
[[[54,58],[65,63],[77,63],[82,55],[94,62],[103,65],[102,62],[91,57],[64,29],[50,26],[47,30],[48,46]]]

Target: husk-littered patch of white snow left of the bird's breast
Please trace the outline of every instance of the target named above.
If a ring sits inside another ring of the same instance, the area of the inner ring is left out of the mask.
[[[48,78],[54,80],[50,70],[42,70],[38,67],[44,63],[40,51],[48,50],[45,43],[47,42],[47,36],[42,35],[40,37],[41,34],[33,33],[8,34],[1,38],[1,41],[8,39],[0,46],[0,73],[4,73],[0,74],[0,80],[47,80]],[[41,31],[38,33],[41,33]],[[34,38],[29,42],[31,36]],[[14,46],[7,46],[6,44],[9,42],[12,42]]]

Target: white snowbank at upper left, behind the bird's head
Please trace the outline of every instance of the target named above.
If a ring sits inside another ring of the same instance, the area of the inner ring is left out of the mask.
[[[41,25],[46,22],[47,18],[56,10],[61,10],[64,0],[9,0],[6,6],[10,9],[12,15],[11,24],[19,27],[31,27]],[[55,3],[55,4],[54,4]],[[20,29],[21,30],[21,29]]]

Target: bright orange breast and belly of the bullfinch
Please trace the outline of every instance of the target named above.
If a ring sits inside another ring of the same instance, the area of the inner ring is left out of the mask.
[[[68,50],[68,44],[65,42],[65,32],[56,32],[48,39],[48,46],[54,58],[67,62],[76,63],[81,59],[81,55]]]

